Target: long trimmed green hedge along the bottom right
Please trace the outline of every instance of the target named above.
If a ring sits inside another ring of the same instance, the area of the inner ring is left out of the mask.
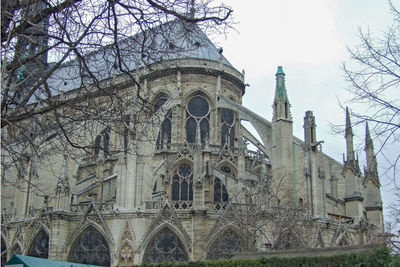
[[[382,247],[362,253],[342,254],[329,257],[272,257],[248,260],[209,260],[196,262],[143,263],[142,267],[335,267],[359,266],[400,267],[400,256],[391,256],[389,249]]]

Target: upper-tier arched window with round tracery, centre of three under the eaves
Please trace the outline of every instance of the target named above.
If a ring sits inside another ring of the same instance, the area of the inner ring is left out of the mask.
[[[195,143],[196,137],[202,144],[210,134],[210,106],[200,94],[190,99],[186,111],[186,140]]]

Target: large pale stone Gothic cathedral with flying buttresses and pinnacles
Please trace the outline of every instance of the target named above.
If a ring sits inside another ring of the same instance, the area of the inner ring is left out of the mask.
[[[345,157],[336,161],[320,146],[318,111],[305,111],[304,136],[293,136],[295,103],[281,66],[267,101],[273,114],[263,118],[242,105],[244,72],[200,28],[172,23],[167,49],[186,49],[151,55],[148,64],[124,55],[129,73],[113,68],[112,47],[87,55],[100,83],[112,81],[121,97],[140,88],[149,110],[131,105],[123,120],[93,124],[84,153],[54,151],[27,158],[22,173],[2,170],[2,264],[15,253],[132,266],[379,242],[382,200],[368,125],[367,166],[360,169],[348,112]],[[179,40],[187,28],[193,34]],[[49,79],[71,101],[84,75],[75,63]]]

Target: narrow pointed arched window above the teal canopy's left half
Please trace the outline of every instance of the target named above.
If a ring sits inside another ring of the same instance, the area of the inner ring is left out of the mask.
[[[36,231],[33,232],[31,239],[27,244],[27,256],[33,256],[38,258],[48,258],[49,257],[49,241],[50,235],[45,227],[38,227]]]

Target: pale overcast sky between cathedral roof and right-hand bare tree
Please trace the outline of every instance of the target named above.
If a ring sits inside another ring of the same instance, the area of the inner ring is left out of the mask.
[[[226,3],[234,10],[235,30],[213,40],[223,47],[224,56],[236,69],[245,70],[250,86],[243,105],[271,121],[275,73],[277,66],[283,66],[294,135],[303,139],[304,114],[313,111],[317,140],[325,141],[323,152],[342,162],[345,139],[333,134],[331,128],[331,124],[344,124],[345,114],[339,101],[349,98],[341,66],[349,58],[347,47],[359,43],[360,28],[382,37],[392,24],[388,2],[229,0]],[[355,143],[362,142],[365,129],[354,132]],[[362,170],[364,152],[359,150],[359,153]],[[378,166],[382,167],[385,164],[381,161],[378,157]],[[393,185],[387,180],[381,177],[384,207],[394,200]]]

